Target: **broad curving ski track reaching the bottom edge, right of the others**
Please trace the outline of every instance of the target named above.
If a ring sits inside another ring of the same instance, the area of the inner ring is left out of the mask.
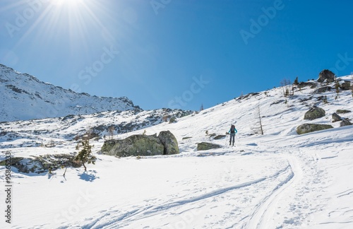
[[[282,199],[286,192],[290,192],[290,188],[299,182],[302,177],[302,172],[297,158],[294,156],[285,156],[289,163],[289,175],[280,184],[277,184],[273,192],[266,196],[262,203],[256,208],[251,215],[248,223],[242,228],[274,228],[271,225],[271,218],[274,216],[277,209],[277,202]]]

